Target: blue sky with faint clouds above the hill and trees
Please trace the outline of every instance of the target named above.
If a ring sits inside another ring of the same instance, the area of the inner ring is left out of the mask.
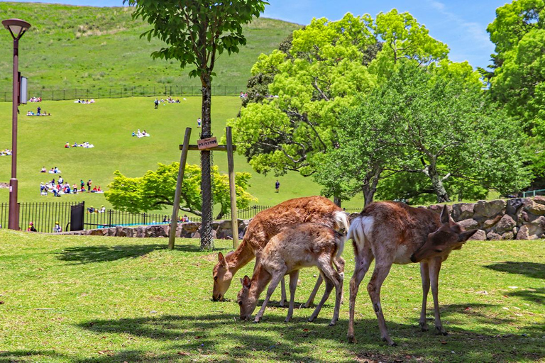
[[[4,1],[4,0],[0,0]],[[24,1],[23,2],[37,2]],[[39,1],[72,5],[122,6],[122,0],[58,0]],[[299,24],[307,24],[313,17],[331,20],[351,12],[355,15],[369,13],[373,18],[382,12],[397,9],[408,11],[419,23],[429,29],[432,37],[441,40],[451,49],[454,62],[467,60],[473,67],[490,64],[494,45],[490,43],[486,27],[495,18],[495,9],[507,4],[505,0],[269,0],[265,14]]]

